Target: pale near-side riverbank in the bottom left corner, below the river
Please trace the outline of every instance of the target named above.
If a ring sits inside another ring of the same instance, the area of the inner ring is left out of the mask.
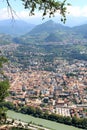
[[[32,122],[23,122],[21,120],[7,118],[6,123],[0,125],[0,130],[51,130],[43,126],[33,124]]]

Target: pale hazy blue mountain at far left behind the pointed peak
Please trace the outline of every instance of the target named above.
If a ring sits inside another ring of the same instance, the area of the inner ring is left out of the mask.
[[[10,35],[23,35],[29,32],[35,25],[28,24],[22,20],[2,20],[0,21],[0,33]]]

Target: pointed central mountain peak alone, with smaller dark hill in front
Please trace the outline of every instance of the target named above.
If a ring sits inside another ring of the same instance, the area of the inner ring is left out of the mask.
[[[37,25],[30,32],[22,35],[21,38],[16,38],[15,41],[22,43],[58,42],[65,39],[69,30],[69,27],[49,20],[43,24]]]

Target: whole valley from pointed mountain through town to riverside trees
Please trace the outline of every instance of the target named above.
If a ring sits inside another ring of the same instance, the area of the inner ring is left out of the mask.
[[[84,26],[70,28],[48,21],[20,36],[0,34],[0,55],[8,59],[3,71],[10,82],[7,104],[1,105],[16,112],[87,128],[80,124],[87,118]],[[81,119],[79,123],[74,117]]]

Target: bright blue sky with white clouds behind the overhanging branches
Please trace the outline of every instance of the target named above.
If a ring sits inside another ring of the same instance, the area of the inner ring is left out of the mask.
[[[42,20],[41,12],[36,12],[35,16],[29,16],[28,10],[24,9],[21,0],[9,0],[13,10],[15,10],[15,19],[25,20],[32,24],[40,24],[49,20],[48,16],[45,20]],[[61,0],[63,1],[63,0]],[[67,0],[71,6],[67,7],[66,24],[68,26],[76,26],[87,23],[87,0]],[[0,20],[11,18],[11,13],[7,8],[5,0],[0,0]],[[56,23],[61,23],[59,14],[55,14],[55,17],[51,18]]]

